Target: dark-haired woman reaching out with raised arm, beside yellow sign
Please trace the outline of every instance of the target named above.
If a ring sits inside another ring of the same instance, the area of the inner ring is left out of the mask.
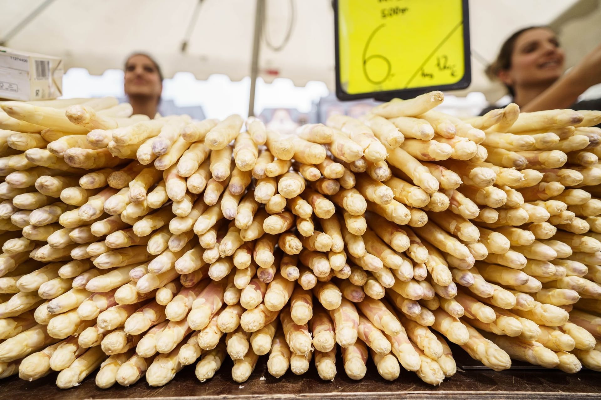
[[[601,99],[576,103],[582,92],[601,83],[601,46],[564,74],[564,51],[555,32],[545,26],[511,35],[486,73],[504,83],[522,111],[601,110]]]

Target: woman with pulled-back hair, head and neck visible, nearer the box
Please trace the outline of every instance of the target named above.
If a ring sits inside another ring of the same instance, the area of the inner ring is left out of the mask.
[[[134,53],[125,62],[124,91],[134,114],[154,118],[163,91],[163,74],[151,56]]]

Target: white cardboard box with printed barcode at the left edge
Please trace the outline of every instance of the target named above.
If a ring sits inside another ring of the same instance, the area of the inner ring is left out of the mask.
[[[0,98],[48,100],[63,94],[63,60],[0,46]]]

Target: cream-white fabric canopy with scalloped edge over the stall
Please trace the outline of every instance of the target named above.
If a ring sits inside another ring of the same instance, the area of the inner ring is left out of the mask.
[[[502,41],[524,26],[559,29],[567,63],[573,65],[601,37],[600,8],[599,0],[470,2],[468,91],[484,92],[492,101],[502,95],[484,67]],[[240,80],[251,70],[255,2],[250,0],[0,0],[0,10],[4,46],[61,56],[66,68],[83,67],[91,74],[123,68],[134,51],[151,53],[166,77],[190,71],[197,79],[222,73]],[[285,77],[302,86],[320,80],[334,89],[331,0],[267,0],[259,67],[267,82]]]

